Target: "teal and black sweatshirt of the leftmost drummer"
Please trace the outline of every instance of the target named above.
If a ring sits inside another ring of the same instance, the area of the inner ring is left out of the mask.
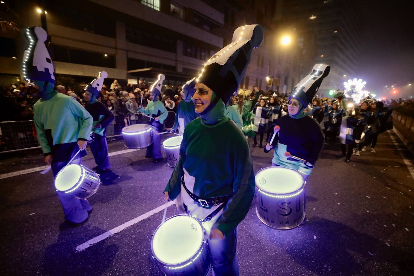
[[[57,93],[49,100],[34,104],[34,124],[45,156],[56,162],[67,160],[79,149],[77,140],[89,141],[92,116],[75,98]],[[79,157],[86,155],[82,151]]]

